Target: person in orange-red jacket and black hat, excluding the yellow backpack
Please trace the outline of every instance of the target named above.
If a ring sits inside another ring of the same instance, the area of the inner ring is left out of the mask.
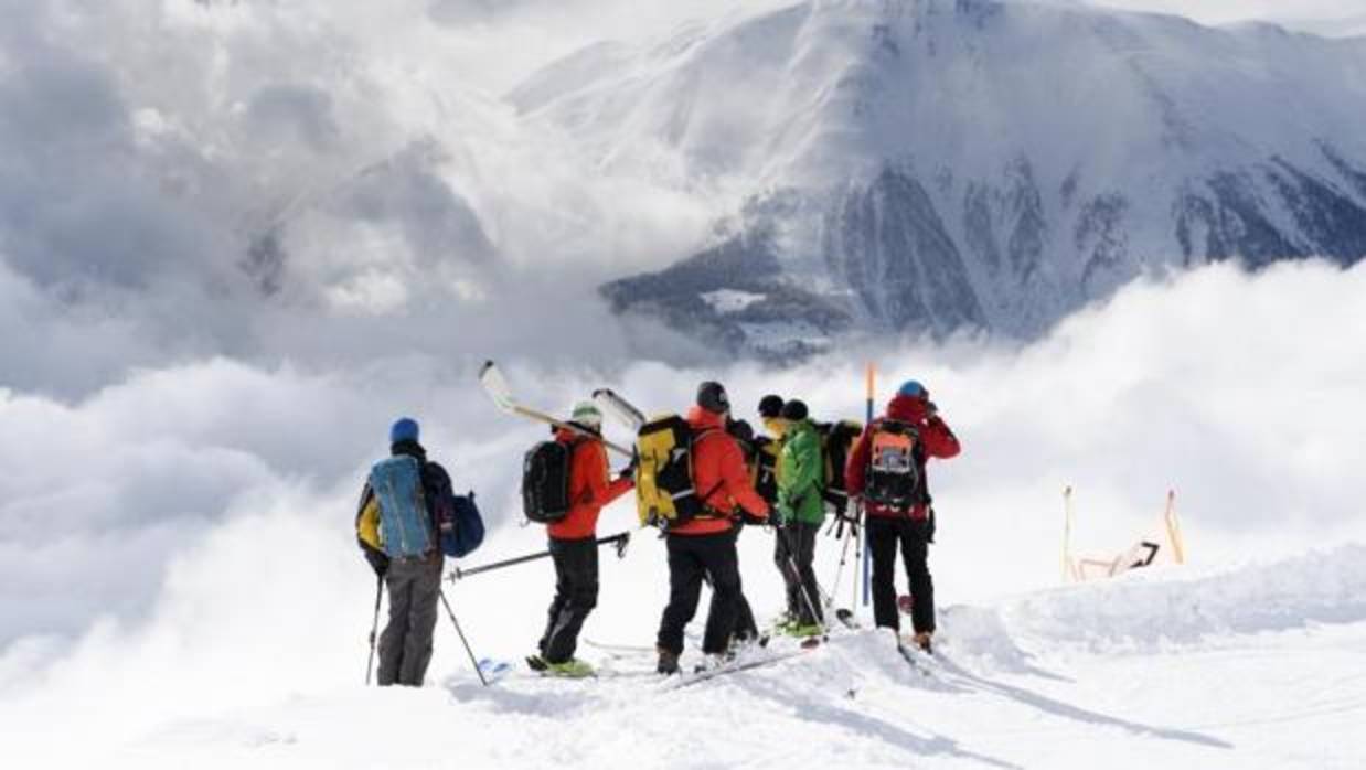
[[[658,672],[679,670],[683,654],[683,628],[697,614],[702,578],[712,582],[712,606],[706,616],[702,653],[725,655],[735,629],[740,595],[740,567],[735,550],[736,508],[758,520],[766,520],[769,505],[754,491],[744,453],[725,430],[731,411],[725,388],[720,382],[702,382],[697,405],[687,420],[694,430],[693,483],[702,497],[706,513],[669,527],[665,542],[669,553],[669,603],[660,618],[656,639],[660,654]]]

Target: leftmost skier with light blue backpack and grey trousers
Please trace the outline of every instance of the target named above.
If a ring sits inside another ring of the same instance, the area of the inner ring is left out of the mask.
[[[381,687],[422,687],[432,661],[441,594],[438,537],[451,526],[436,522],[434,512],[449,509],[444,498],[451,496],[451,476],[426,459],[418,430],[410,418],[389,429],[391,457],[370,471],[355,517],[361,552],[389,591],[389,620],[380,635]]]

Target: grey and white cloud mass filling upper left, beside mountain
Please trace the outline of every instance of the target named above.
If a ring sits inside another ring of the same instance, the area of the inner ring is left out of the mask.
[[[725,203],[519,123],[428,55],[488,30],[426,10],[5,3],[0,385],[79,399],[220,354],[617,355],[635,332],[596,287],[687,253]]]

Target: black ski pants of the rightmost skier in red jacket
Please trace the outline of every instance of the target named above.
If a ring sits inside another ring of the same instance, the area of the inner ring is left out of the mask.
[[[896,609],[896,546],[911,591],[911,625],[917,633],[934,631],[934,580],[926,564],[932,520],[867,516],[867,550],[873,558],[873,620],[878,627],[900,631]]]

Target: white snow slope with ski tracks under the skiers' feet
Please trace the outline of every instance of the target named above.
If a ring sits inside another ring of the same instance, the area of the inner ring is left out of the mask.
[[[932,676],[866,628],[686,688],[652,674],[647,651],[585,644],[600,679],[520,666],[485,688],[466,666],[421,691],[298,695],[163,725],[113,765],[1359,767],[1363,556],[1343,546],[947,606],[938,654],[917,655]],[[765,654],[792,647],[777,638]]]

